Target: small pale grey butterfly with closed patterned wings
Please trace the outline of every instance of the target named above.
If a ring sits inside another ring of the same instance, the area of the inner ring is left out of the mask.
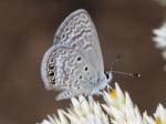
[[[112,71],[104,72],[97,32],[85,10],[72,12],[59,27],[43,56],[41,75],[48,90],[60,92],[56,101],[101,95],[108,86]]]

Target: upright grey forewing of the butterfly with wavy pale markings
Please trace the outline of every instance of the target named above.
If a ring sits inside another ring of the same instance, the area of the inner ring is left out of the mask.
[[[104,65],[96,29],[89,13],[80,9],[71,13],[55,33],[53,44],[62,44],[77,51],[82,49],[84,58],[92,64],[100,76],[103,76]]]

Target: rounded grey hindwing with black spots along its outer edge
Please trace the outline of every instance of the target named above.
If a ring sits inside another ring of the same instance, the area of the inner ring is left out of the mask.
[[[82,54],[61,45],[46,51],[41,69],[45,86],[50,90],[81,90],[87,86],[94,76],[94,70]]]

